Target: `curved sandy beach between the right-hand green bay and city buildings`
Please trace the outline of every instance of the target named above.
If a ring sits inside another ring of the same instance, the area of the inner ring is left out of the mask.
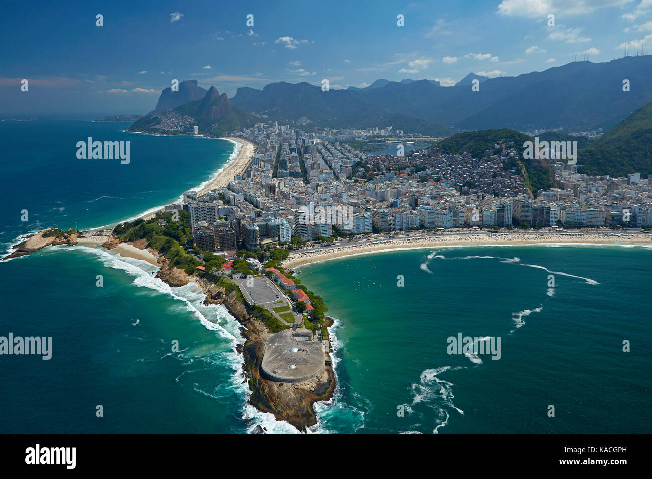
[[[307,248],[290,254],[284,268],[296,268],[308,263],[336,259],[357,254],[387,250],[436,248],[437,246],[518,246],[526,244],[640,244],[652,245],[652,235],[632,233],[497,233],[497,234],[441,234],[417,237],[387,238],[326,248]]]

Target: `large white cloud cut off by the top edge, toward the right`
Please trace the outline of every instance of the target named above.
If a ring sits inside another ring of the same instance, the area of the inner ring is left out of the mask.
[[[545,20],[548,14],[563,13],[566,15],[586,14],[600,8],[617,7],[631,0],[502,0],[498,5],[497,14],[503,16],[518,16]]]

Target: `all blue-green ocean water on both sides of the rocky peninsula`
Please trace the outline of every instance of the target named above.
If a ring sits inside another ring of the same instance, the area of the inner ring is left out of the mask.
[[[3,252],[44,227],[102,227],[171,203],[234,153],[226,140],[126,126],[0,123]],[[89,136],[131,141],[130,164],[78,160]],[[625,246],[431,248],[305,265],[299,277],[336,318],[338,378],[310,432],[649,433],[651,266],[649,248]],[[155,271],[80,245],[0,263],[0,336],[52,336],[50,360],[0,356],[0,433],[298,432],[246,404],[237,321]],[[447,354],[459,333],[500,337],[501,357]]]

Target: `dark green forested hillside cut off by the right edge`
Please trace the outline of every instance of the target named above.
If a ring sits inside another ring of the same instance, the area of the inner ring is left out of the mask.
[[[612,177],[652,174],[652,102],[634,111],[593,145],[580,150],[578,171]]]

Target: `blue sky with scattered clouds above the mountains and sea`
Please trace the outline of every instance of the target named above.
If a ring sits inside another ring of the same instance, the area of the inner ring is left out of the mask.
[[[146,113],[172,79],[195,78],[229,96],[241,86],[323,78],[331,88],[378,78],[452,85],[469,72],[545,70],[576,53],[610,61],[625,44],[630,55],[641,51],[646,37],[652,51],[652,0],[1,5],[0,115],[14,116]]]

